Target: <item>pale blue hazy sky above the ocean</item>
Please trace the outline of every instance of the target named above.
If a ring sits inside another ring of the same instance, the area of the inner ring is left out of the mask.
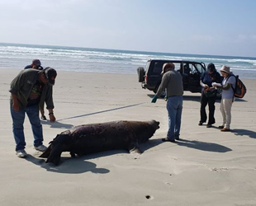
[[[256,57],[254,0],[0,0],[0,42]]]

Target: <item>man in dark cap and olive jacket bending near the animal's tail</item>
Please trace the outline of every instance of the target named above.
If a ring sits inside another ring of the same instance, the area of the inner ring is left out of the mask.
[[[55,122],[52,87],[57,73],[54,68],[43,70],[25,69],[11,82],[12,132],[16,142],[17,157],[26,157],[23,124],[28,116],[34,136],[34,148],[44,152],[42,124],[39,119],[39,105],[46,103],[51,122]]]

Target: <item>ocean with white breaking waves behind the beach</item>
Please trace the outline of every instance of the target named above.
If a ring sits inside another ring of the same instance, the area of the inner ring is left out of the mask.
[[[0,43],[0,68],[21,68],[21,65],[31,63],[31,59],[40,59],[43,66],[52,65],[59,70],[79,72],[136,73],[136,68],[145,67],[149,59],[212,62],[216,68],[228,65],[237,73],[256,71],[255,58]]]

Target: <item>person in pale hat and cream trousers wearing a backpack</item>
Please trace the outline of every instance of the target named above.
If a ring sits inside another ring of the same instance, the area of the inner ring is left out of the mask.
[[[222,125],[219,126],[221,132],[230,132],[231,107],[234,101],[235,76],[230,72],[230,67],[220,68],[220,74],[224,77],[222,81],[222,97],[220,101],[220,112],[222,115]],[[214,86],[214,85],[213,85]],[[233,87],[233,88],[232,88]]]

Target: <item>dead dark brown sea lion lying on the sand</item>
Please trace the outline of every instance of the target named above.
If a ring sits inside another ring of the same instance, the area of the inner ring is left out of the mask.
[[[155,120],[83,124],[58,134],[40,157],[58,165],[62,152],[72,157],[114,149],[140,152],[139,143],[148,141],[156,129],[159,122]]]

